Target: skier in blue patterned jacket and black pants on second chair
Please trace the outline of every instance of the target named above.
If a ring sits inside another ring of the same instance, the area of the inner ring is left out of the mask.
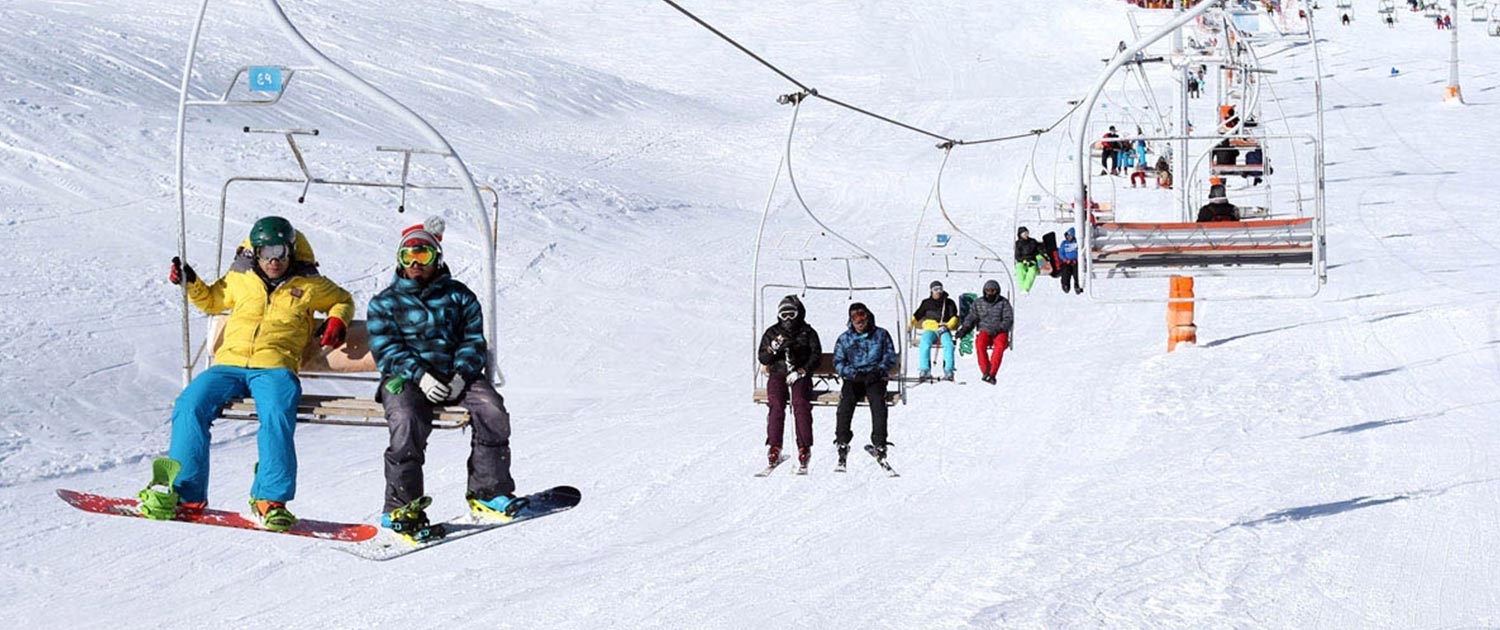
[[[874,446],[874,456],[885,460],[885,392],[897,358],[891,333],[874,326],[870,309],[860,302],[849,304],[849,330],[844,330],[834,344],[834,370],[843,380],[843,388],[838,392],[838,423],[834,430],[840,464],[849,458],[849,441],[854,440],[849,424],[854,422],[854,408],[860,399],[870,404],[870,444]]]

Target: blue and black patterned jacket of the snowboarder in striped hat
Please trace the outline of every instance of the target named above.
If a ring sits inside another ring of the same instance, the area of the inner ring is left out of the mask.
[[[426,286],[398,272],[370,300],[369,333],[382,376],[416,381],[430,372],[442,381],[462,375],[474,382],[484,375],[484,312],[447,267]]]

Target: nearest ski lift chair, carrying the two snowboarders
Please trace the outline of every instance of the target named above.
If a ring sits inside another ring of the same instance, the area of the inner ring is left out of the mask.
[[[364,80],[348,72],[321,51],[318,51],[310,42],[308,42],[302,33],[291,24],[286,15],[282,12],[276,0],[266,0],[267,12],[272,14],[273,21],[280,26],[282,33],[288,38],[294,50],[300,51],[306,57],[316,62],[316,66],[309,68],[286,68],[286,66],[258,66],[258,68],[240,68],[224,92],[208,100],[192,100],[189,99],[189,81],[194,75],[194,60],[198,51],[198,34],[202,28],[204,15],[208,10],[208,2],[206,0],[200,6],[198,20],[195,21],[188,58],[183,68],[183,82],[178,92],[178,110],[177,120],[178,142],[177,142],[177,208],[178,208],[178,255],[188,260],[188,225],[186,225],[186,201],[184,201],[184,177],[183,164],[184,158],[184,142],[186,135],[188,111],[189,108],[273,108],[282,100],[282,96],[292,86],[292,78],[312,75],[332,78],[336,84],[350,88],[372,99],[376,105],[381,105],[388,112],[396,116],[396,118],[404,120],[411,124],[424,141],[428,147],[376,147],[376,152],[392,153],[402,156],[400,178],[398,182],[375,182],[375,180],[339,180],[326,178],[315,176],[308,166],[306,159],[302,154],[298,146],[298,138],[303,136],[318,136],[316,129],[254,129],[243,128],[244,134],[268,134],[279,135],[286,141],[291,150],[292,159],[297,162],[300,170],[300,177],[262,177],[262,176],[236,176],[230,177],[220,186],[219,194],[219,237],[218,246],[214,249],[216,255],[220,255],[224,249],[224,232],[225,232],[225,216],[228,213],[228,200],[231,189],[237,189],[237,184],[272,184],[272,186],[300,186],[302,192],[297,196],[297,202],[304,202],[309,190],[314,186],[320,189],[382,189],[399,194],[398,212],[404,212],[406,207],[408,192],[411,190],[458,190],[460,194],[468,194],[468,201],[471,202],[470,210],[474,213],[474,224],[480,225],[480,242],[484,244],[484,266],[483,279],[484,286],[480,294],[480,304],[483,309],[483,316],[486,320],[484,339],[489,344],[489,378],[496,386],[504,382],[504,376],[500,372],[496,360],[496,320],[495,320],[495,243],[496,243],[496,222],[500,212],[498,194],[488,186],[476,186],[474,178],[470,176],[468,166],[464,160],[453,152],[447,140],[436,132],[426,120],[405,108],[388,94],[380,88],[370,86]],[[276,80],[268,80],[267,76],[274,75]],[[280,78],[285,78],[282,81]],[[240,78],[246,78],[246,86],[240,88]],[[274,84],[273,90],[256,92],[264,87],[264,84]],[[302,81],[304,82],[304,81]],[[300,84],[300,82],[298,82]],[[270,94],[267,94],[270,92]],[[444,186],[444,184],[422,184],[410,180],[411,162],[417,156],[436,156],[447,162],[450,170],[458,174],[459,184]],[[490,207],[482,198],[483,194],[489,194],[494,200]],[[494,212],[492,218],[489,213]],[[218,256],[216,256],[218,258]],[[214,270],[214,278],[222,276],[222,258],[219,258],[219,266]],[[208,336],[202,346],[198,350],[198,356],[194,356],[192,340],[189,334],[190,327],[190,310],[186,297],[186,286],[182,292],[182,332],[183,332],[183,386],[192,380],[194,368],[202,357],[204,350],[210,350],[208,362],[212,362],[212,350],[224,340],[224,324],[226,316],[218,315],[208,320]],[[372,388],[378,387],[380,375],[375,368],[374,357],[369,351],[369,332],[363,320],[356,320],[346,322],[345,344],[339,348],[322,350],[318,348],[318,333],[308,340],[308,346],[303,352],[303,378],[330,378],[330,380],[354,380],[368,381]],[[220,417],[230,420],[256,420],[255,402],[254,399],[232,400],[220,410]],[[332,396],[332,394],[303,394],[302,405],[297,410],[297,420],[304,423],[322,423],[322,424],[356,424],[356,426],[386,426],[384,410],[381,404],[375,399],[362,399],[350,396]],[[434,428],[438,429],[456,429],[468,424],[468,411],[458,406],[447,406],[435,410]]]

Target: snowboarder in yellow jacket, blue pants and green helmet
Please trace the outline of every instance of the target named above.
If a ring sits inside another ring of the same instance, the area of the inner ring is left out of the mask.
[[[297,494],[292,432],[302,402],[302,352],[314,333],[314,312],[328,314],[321,345],[344,344],[354,298],[318,274],[312,248],[279,216],[255,222],[249,248],[240,248],[230,273],[218,282],[204,284],[178,258],[172,258],[171,282],[186,282],[188,298],[204,312],[230,312],[213,366],[194,378],[172,406],[170,458],[182,464],[172,482],[177,506],[207,506],[208,423],[226,402],[249,394],[261,422],[250,506],[267,530],[290,530],[297,522],[286,501]]]

